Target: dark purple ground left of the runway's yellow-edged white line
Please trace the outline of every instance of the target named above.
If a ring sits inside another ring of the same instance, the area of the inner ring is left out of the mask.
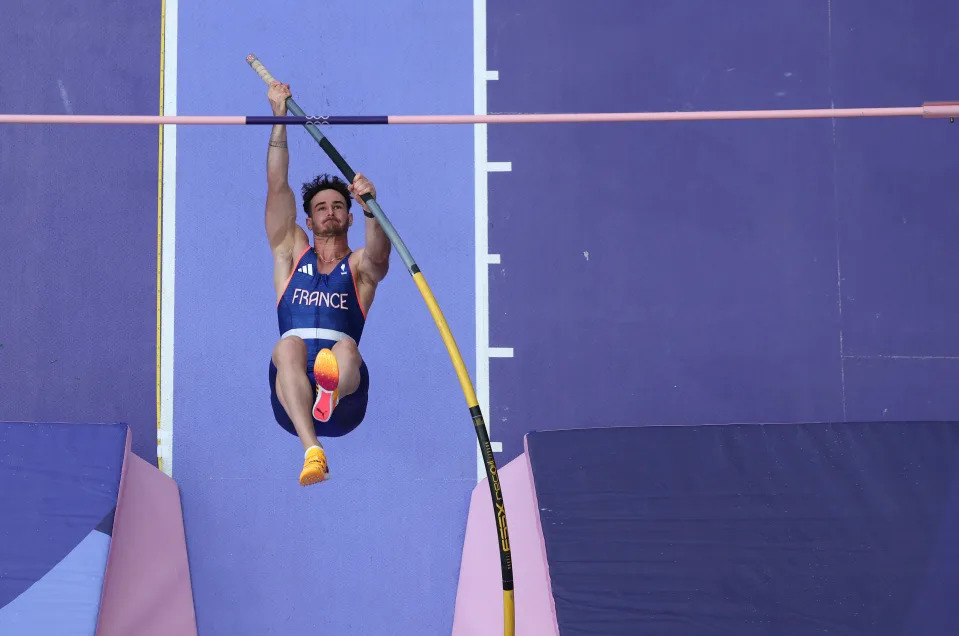
[[[160,4],[5,3],[0,112],[156,114]],[[157,130],[0,127],[0,420],[125,422],[156,464]]]

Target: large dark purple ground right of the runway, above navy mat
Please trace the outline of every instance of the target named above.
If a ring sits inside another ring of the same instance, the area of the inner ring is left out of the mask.
[[[953,99],[940,1],[489,0],[490,112]],[[944,122],[502,126],[490,156],[502,460],[543,428],[956,418]],[[556,160],[544,160],[555,157]],[[588,253],[588,255],[587,255]],[[935,359],[930,359],[935,357]]]

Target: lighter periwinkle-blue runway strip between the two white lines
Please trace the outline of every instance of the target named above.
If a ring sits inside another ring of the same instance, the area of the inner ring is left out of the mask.
[[[472,109],[468,4],[334,2],[304,16],[291,7],[182,3],[178,111],[270,114],[250,53],[306,112]],[[472,371],[472,129],[324,134],[376,185]],[[263,228],[269,136],[265,126],[177,130],[173,471],[199,633],[448,634],[476,483],[462,391],[394,252],[360,342],[366,420],[324,440],[328,483],[299,486],[303,450],[274,421],[267,382],[279,337]],[[294,193],[336,172],[306,131],[288,139]],[[364,217],[354,214],[359,247]]]

